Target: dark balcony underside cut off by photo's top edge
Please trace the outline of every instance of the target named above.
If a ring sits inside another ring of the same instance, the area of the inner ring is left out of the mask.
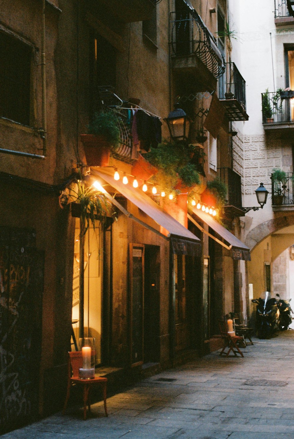
[[[101,0],[103,10],[122,23],[150,20],[158,0]],[[105,12],[104,12],[105,13]]]

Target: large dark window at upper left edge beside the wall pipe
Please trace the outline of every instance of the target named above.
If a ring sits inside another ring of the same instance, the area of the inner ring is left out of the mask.
[[[30,124],[32,47],[0,32],[0,117]]]

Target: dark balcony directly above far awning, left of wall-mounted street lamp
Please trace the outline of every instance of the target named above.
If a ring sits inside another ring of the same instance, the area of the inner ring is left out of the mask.
[[[218,168],[220,181],[228,188],[224,210],[227,216],[244,216],[242,209],[241,176],[230,168]]]

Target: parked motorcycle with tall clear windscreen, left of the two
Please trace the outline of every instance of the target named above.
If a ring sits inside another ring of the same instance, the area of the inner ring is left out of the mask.
[[[256,303],[256,329],[259,338],[272,337],[275,331],[279,330],[280,309],[276,299],[269,299],[269,291],[266,291],[266,298],[252,299]]]

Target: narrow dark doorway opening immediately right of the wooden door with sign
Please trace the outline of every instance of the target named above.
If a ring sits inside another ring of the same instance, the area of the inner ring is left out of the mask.
[[[159,348],[160,247],[145,245],[144,363],[156,363]]]

